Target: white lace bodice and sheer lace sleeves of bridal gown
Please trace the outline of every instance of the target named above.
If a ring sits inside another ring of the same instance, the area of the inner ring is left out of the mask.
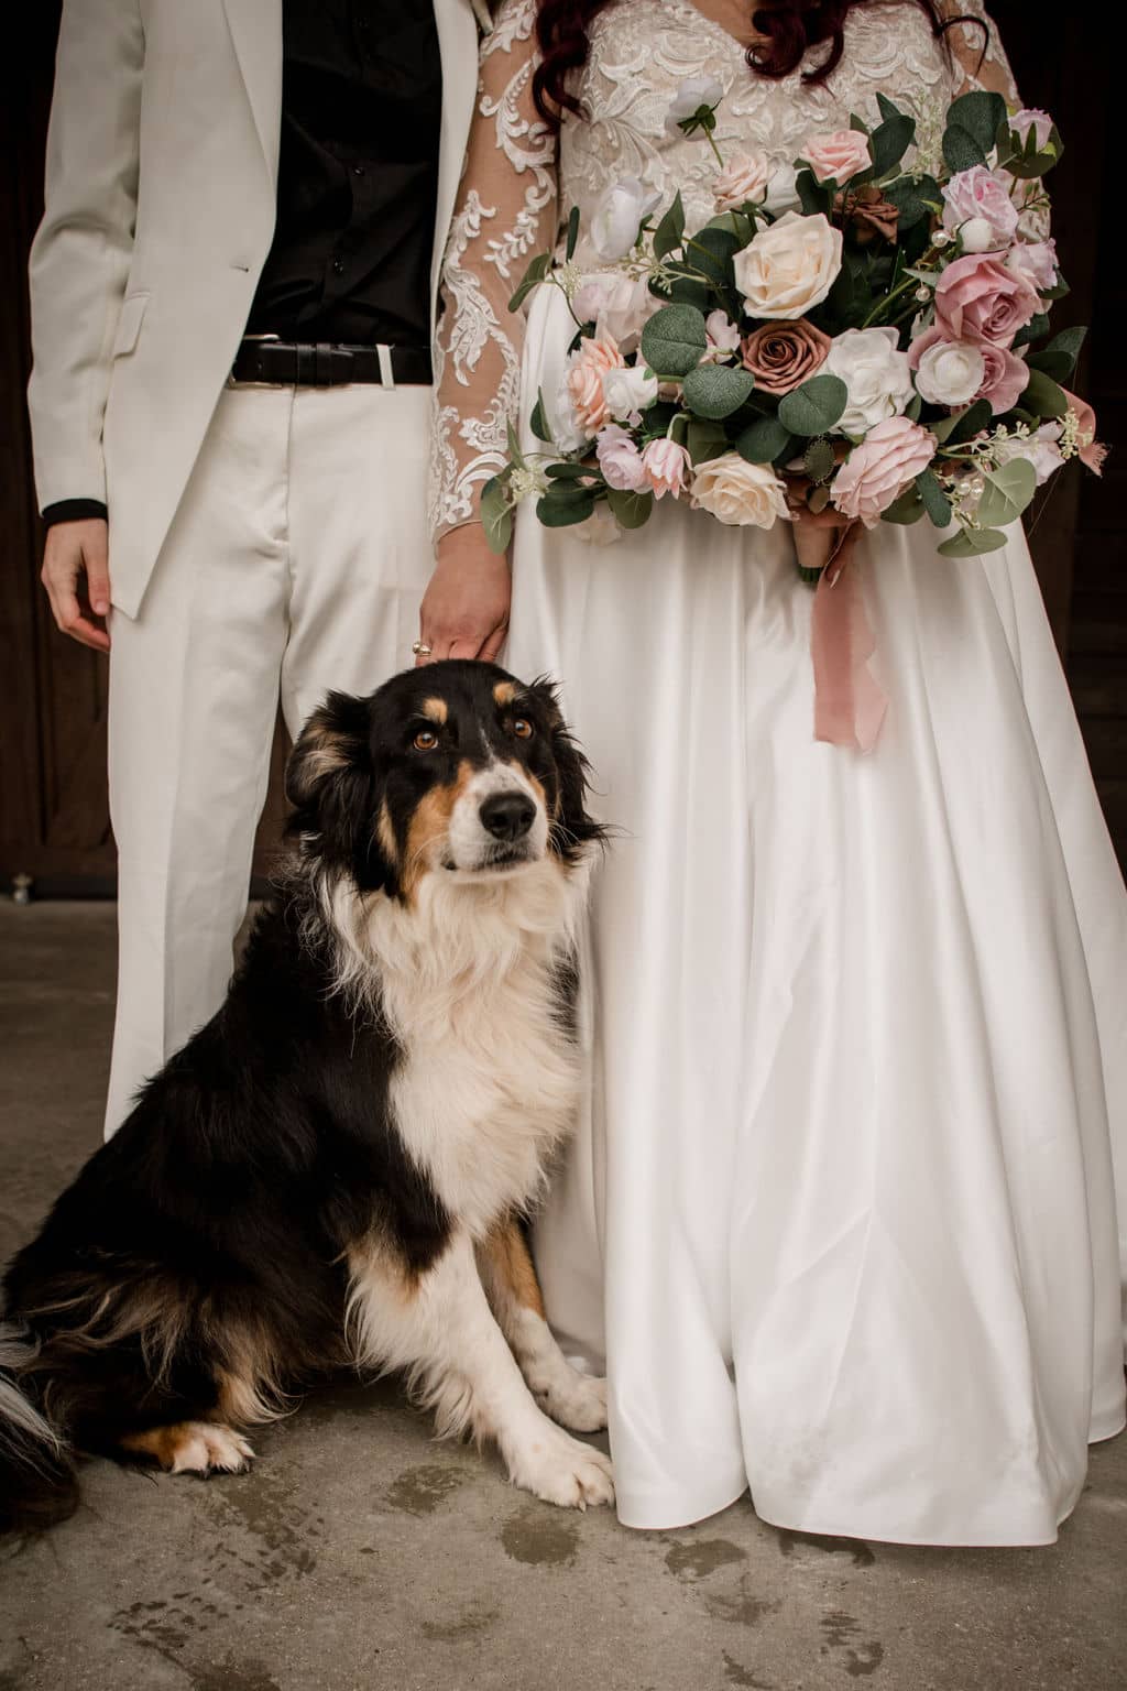
[[[948,10],[988,24],[980,0],[948,0]],[[973,22],[953,24],[941,42],[912,0],[853,7],[838,69],[813,86],[798,71],[782,81],[757,76],[745,47],[693,0],[612,0],[591,24],[590,59],[574,86],[586,117],[566,115],[556,137],[532,105],[534,20],[536,0],[504,0],[482,49],[478,112],[443,267],[436,538],[475,519],[482,485],[505,463],[522,330],[507,303],[529,257],[553,245],[561,208],[580,206],[590,225],[605,189],[635,176],[662,203],[679,188],[689,227],[711,216],[711,149],[666,130],[681,81],[708,76],[725,90],[716,113],[721,152],[764,152],[779,164],[789,164],[811,132],[847,129],[852,112],[877,123],[879,91],[917,118],[924,164],[938,162],[943,112],[958,93],[982,86],[1017,101],[994,25],[985,54]],[[585,259],[583,249],[576,257]]]

